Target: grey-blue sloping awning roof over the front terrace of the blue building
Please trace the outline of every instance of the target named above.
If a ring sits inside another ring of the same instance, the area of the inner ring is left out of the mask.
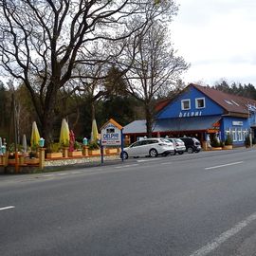
[[[204,131],[213,128],[213,124],[221,116],[157,119],[153,125],[153,132]],[[123,127],[123,134],[145,134],[146,120],[135,120]]]

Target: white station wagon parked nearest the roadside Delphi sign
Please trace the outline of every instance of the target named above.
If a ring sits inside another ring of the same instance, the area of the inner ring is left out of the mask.
[[[123,149],[123,158],[169,155],[174,153],[174,144],[162,137],[145,138],[134,142],[129,147]],[[122,156],[122,155],[120,155]]]

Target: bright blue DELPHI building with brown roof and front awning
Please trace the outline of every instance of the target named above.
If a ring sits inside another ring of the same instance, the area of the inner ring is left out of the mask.
[[[202,143],[213,137],[225,141],[230,135],[233,145],[241,146],[247,135],[255,137],[255,114],[256,101],[191,83],[159,109],[153,135],[197,137]],[[145,120],[129,123],[123,134],[131,141],[146,136]]]

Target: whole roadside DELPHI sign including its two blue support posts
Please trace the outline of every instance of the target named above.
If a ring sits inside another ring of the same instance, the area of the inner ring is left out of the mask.
[[[122,126],[114,119],[109,119],[101,127],[101,163],[103,163],[103,147],[121,147],[121,158],[123,160],[123,137]]]

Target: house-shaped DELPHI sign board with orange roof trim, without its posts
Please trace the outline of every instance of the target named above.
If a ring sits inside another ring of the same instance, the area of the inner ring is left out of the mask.
[[[114,119],[110,119],[101,128],[102,146],[120,146],[122,127]]]

